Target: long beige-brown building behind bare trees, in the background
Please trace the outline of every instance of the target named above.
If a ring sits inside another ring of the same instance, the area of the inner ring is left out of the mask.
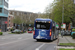
[[[38,14],[37,13],[33,13],[33,12],[25,12],[25,11],[18,11],[18,10],[9,10],[9,14],[13,15],[13,18],[15,17],[19,17],[23,20],[23,23],[20,25],[21,29],[24,29],[22,27],[24,27],[24,24],[27,26],[31,26],[31,23],[34,23],[34,20],[36,18],[38,18]],[[17,28],[16,23],[13,24],[15,28]],[[26,27],[26,26],[25,26]]]

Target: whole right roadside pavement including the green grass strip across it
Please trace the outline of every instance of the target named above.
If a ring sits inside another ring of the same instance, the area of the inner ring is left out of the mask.
[[[72,39],[71,36],[61,36],[59,35],[58,39],[58,46],[56,47],[57,50],[64,48],[66,50],[68,49],[74,49],[75,50],[75,39]],[[60,44],[61,43],[61,44]]]

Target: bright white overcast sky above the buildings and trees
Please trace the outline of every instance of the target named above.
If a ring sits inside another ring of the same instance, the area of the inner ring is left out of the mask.
[[[43,13],[54,0],[9,0],[9,10]]]

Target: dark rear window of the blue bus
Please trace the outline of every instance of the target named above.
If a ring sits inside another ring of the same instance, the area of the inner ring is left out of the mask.
[[[36,22],[36,29],[50,29],[50,23],[49,22]]]

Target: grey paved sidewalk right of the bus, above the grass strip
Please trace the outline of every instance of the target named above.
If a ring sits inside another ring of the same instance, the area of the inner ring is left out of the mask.
[[[75,43],[75,39],[72,39],[71,36],[63,36],[59,35],[59,43]]]

